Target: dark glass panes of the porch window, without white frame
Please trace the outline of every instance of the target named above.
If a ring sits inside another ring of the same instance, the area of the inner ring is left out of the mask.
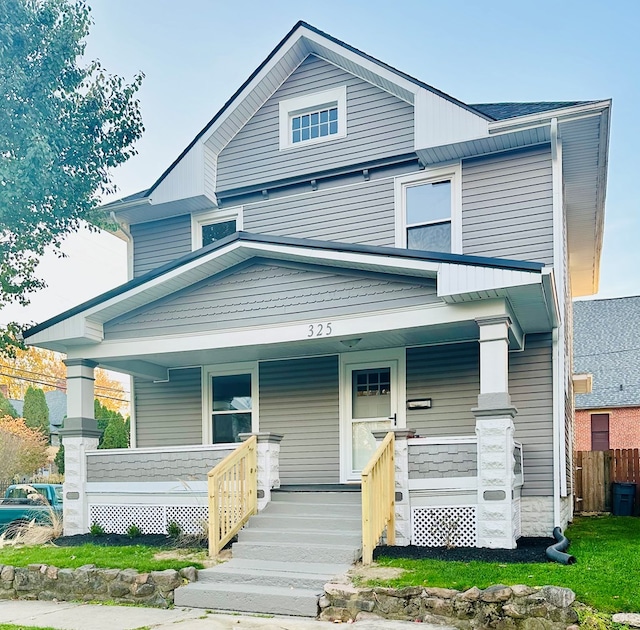
[[[214,444],[239,442],[240,433],[251,432],[251,374],[213,376],[211,392]]]

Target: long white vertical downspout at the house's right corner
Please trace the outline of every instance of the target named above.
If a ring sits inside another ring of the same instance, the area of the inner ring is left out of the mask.
[[[558,119],[551,119],[551,170],[552,170],[552,195],[553,195],[553,267],[555,271],[556,287],[558,291],[559,321],[557,327],[552,333],[552,431],[553,431],[553,525],[560,527],[561,520],[561,503],[560,492],[562,487],[562,448],[563,440],[561,439],[561,422],[560,422],[560,402],[564,411],[564,382],[561,369],[561,353],[563,346],[561,344],[563,338],[563,322],[564,322],[564,270],[562,265],[562,165],[559,155],[559,138],[558,138]]]

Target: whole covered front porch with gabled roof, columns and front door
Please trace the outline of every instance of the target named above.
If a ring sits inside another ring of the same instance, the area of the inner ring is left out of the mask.
[[[263,436],[264,506],[282,485],[359,483],[392,432],[399,544],[440,510],[449,530],[475,518],[468,544],[512,547],[516,460],[533,496],[553,492],[554,305],[535,263],[243,234],[194,252],[32,329],[68,356],[65,528],[200,518],[242,434]],[[97,365],[134,377],[127,451],[95,450]]]

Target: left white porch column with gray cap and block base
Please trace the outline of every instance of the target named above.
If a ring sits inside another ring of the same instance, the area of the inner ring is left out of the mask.
[[[64,446],[64,535],[89,531],[85,494],[87,481],[86,451],[98,448],[100,431],[94,417],[94,368],[86,359],[67,359],[67,417],[60,430]]]

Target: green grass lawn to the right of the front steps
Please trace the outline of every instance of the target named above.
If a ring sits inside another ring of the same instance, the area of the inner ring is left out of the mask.
[[[624,516],[576,518],[566,532],[577,563],[497,564],[378,558],[400,567],[401,577],[377,585],[438,586],[465,590],[492,584],[565,586],[577,599],[603,612],[640,610],[640,519]],[[371,583],[373,584],[373,582]]]

